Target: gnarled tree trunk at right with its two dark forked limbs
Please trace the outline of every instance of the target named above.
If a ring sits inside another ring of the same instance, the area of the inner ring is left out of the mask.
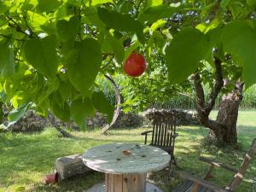
[[[222,97],[216,120],[209,119],[209,114],[215,105],[218,93],[225,85],[221,67],[222,62],[217,57],[214,57],[214,63],[216,68],[215,83],[212,86],[208,101],[206,101],[201,85],[200,74],[195,73],[193,75],[198,119],[201,125],[210,129],[209,142],[220,146],[226,144],[234,145],[237,143],[236,122],[239,104],[242,100],[243,83],[236,82],[234,90]]]

